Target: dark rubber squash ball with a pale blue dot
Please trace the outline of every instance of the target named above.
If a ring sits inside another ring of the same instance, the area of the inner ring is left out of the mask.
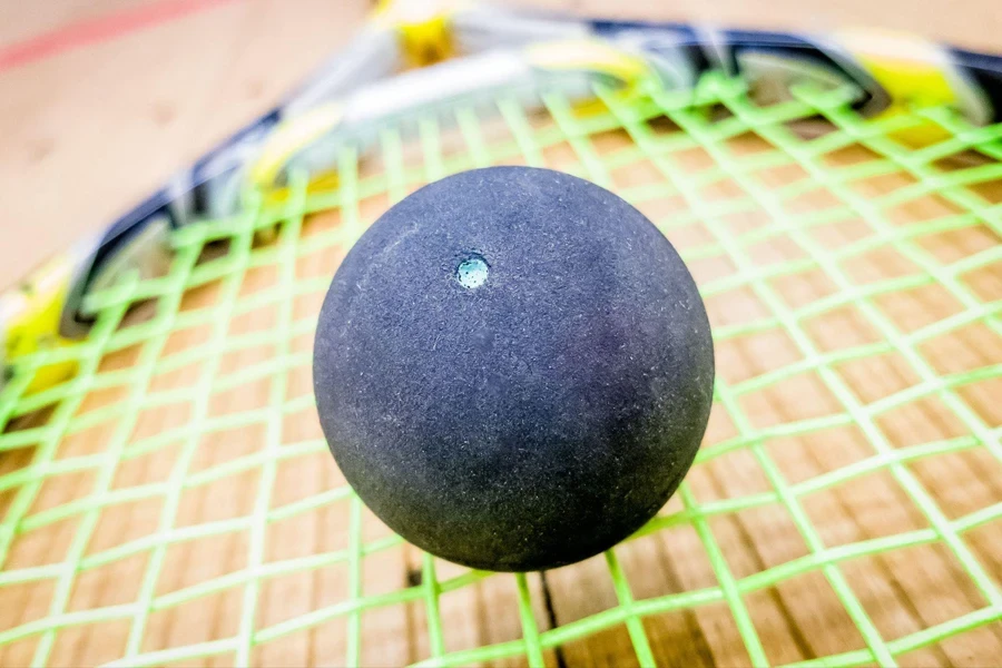
[[[458,563],[549,569],[639,529],[709,416],[714,348],[658,229],[579,178],[493,167],[387,210],[337,269],[317,410],[358,497]]]

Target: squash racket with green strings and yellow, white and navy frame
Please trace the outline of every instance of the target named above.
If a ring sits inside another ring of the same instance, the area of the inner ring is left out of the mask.
[[[1002,60],[419,9],[0,297],[0,664],[998,660]],[[546,574],[392,534],[312,395],[353,240],[494,164],[636,205],[717,346],[676,497]]]

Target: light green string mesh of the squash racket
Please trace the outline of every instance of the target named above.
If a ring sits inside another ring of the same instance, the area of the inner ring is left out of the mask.
[[[551,96],[544,100],[549,121],[542,124],[537,122],[533,114],[513,99],[497,100],[500,111],[498,121],[489,121],[480,108],[463,107],[454,111],[456,131],[461,138],[459,147],[449,144],[445,137],[448,131],[431,117],[418,122],[416,151],[409,153],[413,143],[400,128],[384,128],[375,151],[382,163],[376,173],[370,174],[360,168],[358,155],[352,149],[343,149],[338,159],[340,184],[336,191],[307,194],[305,185],[298,183],[288,200],[281,206],[263,207],[259,202],[250,203],[236,219],[206,222],[176,230],[171,239],[176,253],[165,276],[150,279],[127,276],[114,286],[90,295],[86,307],[96,320],[88,338],[72,347],[23,358],[12,381],[0,392],[0,422],[8,428],[0,435],[0,456],[30,453],[23,466],[0,475],[0,493],[4,493],[7,499],[0,522],[0,597],[8,587],[29,583],[53,586],[47,615],[21,626],[0,629],[0,648],[24,639],[37,639],[32,664],[45,666],[50,662],[53,644],[60,633],[110,620],[125,620],[129,632],[122,648],[121,665],[155,666],[218,656],[233,657],[238,665],[248,665],[255,648],[259,646],[343,619],[346,654],[331,660],[357,665],[364,650],[363,615],[380,608],[414,605],[421,607],[426,617],[429,656],[421,660],[422,665],[465,666],[510,657],[521,658],[530,666],[551,664],[548,654],[556,648],[617,626],[625,626],[628,630],[637,660],[641,665],[650,665],[656,659],[656,651],[644,622],[646,618],[723,605],[730,610],[749,660],[755,665],[766,665],[769,662],[767,648],[763,645],[760,629],[756,626],[747,599],[755,592],[812,572],[824,576],[861,636],[859,648],[822,657],[812,664],[894,665],[908,652],[998,623],[1002,619],[1002,591],[996,578],[971,550],[965,534],[988,524],[999,524],[1002,502],[964,517],[951,518],[908,464],[975,449],[984,449],[994,460],[1002,462],[1002,426],[988,423],[962,393],[967,385],[1002,379],[1002,364],[944,375],[935,371],[922,347],[929,341],[972,324],[982,324],[995,335],[1002,334],[1002,294],[986,301],[962,279],[971,272],[1002,267],[1002,244],[944,263],[918,243],[927,235],[972,228],[992,233],[996,242],[1002,236],[1002,206],[979,194],[975,187],[1002,179],[1002,164],[985,163],[953,170],[937,164],[967,149],[976,149],[995,158],[1002,156],[1002,126],[970,127],[949,109],[924,109],[912,116],[866,120],[847,106],[851,96],[845,90],[797,90],[793,100],[762,108],[746,97],[741,82],[719,75],[706,76],[695,92],[664,89],[649,92],[649,96],[623,101],[609,91],[600,90],[607,108],[589,115],[579,114],[566,99]],[[798,121],[817,117],[826,120],[826,134],[808,139],[795,128]],[[670,124],[666,125],[661,119]],[[492,135],[492,122],[500,122],[503,128],[498,137]],[[895,130],[916,122],[934,122],[947,130],[949,138],[921,149],[906,148],[893,138]],[[598,140],[610,134],[620,137],[621,145],[600,150]],[[748,155],[736,154],[730,141],[749,134],[763,140],[767,149]],[[864,147],[872,154],[872,159],[837,169],[828,165],[832,155],[852,146]],[[799,351],[800,358],[796,362],[744,381],[728,382],[718,373],[715,391],[717,407],[729,416],[737,433],[704,448],[697,458],[696,466],[700,466],[728,453],[747,451],[760,465],[769,489],[736,498],[700,501],[685,483],[679,490],[680,510],[659,515],[635,537],[641,540],[679,527],[692,528],[717,580],[715,586],[638,597],[617,558],[617,550],[611,550],[606,554],[605,563],[618,605],[556,628],[543,628],[533,612],[534,607],[540,605],[530,582],[534,576],[469,571],[440,579],[435,560],[428,556],[422,558],[419,568],[419,583],[390,592],[369,593],[363,586],[366,559],[397,548],[402,541],[397,537],[366,541],[362,504],[347,487],[325,490],[283,505],[274,505],[272,500],[276,471],[282,463],[326,450],[322,439],[289,441],[284,433],[286,420],[313,410],[312,395],[289,394],[287,381],[289,373],[311,364],[310,354],[297,351],[289,342],[310,336],[316,317],[315,313],[306,317],[297,314],[295,301],[301,296],[322,293],[330,279],[330,272],[323,276],[301,276],[297,266],[316,253],[346,247],[357,238],[374,219],[373,210],[363,207],[367,200],[383,198],[384,206],[387,206],[402,198],[412,184],[473,167],[510,161],[544,166],[549,164],[549,151],[557,147],[564,147],[572,156],[560,168],[616,188],[641,209],[646,204],[666,197],[677,197],[685,204],[682,210],[655,219],[655,223],[669,238],[687,226],[703,226],[707,239],[686,246],[681,250],[684,259],[697,262],[720,257],[736,268],[729,275],[703,282],[700,291],[704,297],[748,289],[765,304],[768,312],[750,322],[715,323],[714,335],[718,346],[757,333],[780,330]],[[708,156],[713,164],[696,171],[686,169],[679,157],[691,151]],[[652,167],[654,180],[616,187],[617,170],[639,163]],[[806,178],[764,187],[755,177],[760,171],[783,168],[799,170]],[[912,183],[873,196],[864,196],[854,188],[854,185],[867,179],[891,174],[905,174]],[[737,188],[737,196],[716,199],[701,196],[705,188],[723,183]],[[837,205],[795,212],[790,204],[815,188],[823,188],[837,200]],[[931,195],[950,203],[952,213],[908,225],[897,225],[892,220],[890,212],[894,207]],[[307,217],[322,212],[336,212],[340,225],[315,234],[303,234]],[[756,213],[764,213],[768,223],[743,234],[728,229],[726,222],[730,216]],[[836,248],[825,247],[811,234],[848,218],[862,220],[871,234]],[[274,243],[255,242],[255,232],[274,226],[279,229]],[[792,239],[804,250],[804,256],[768,265],[756,264],[750,249],[777,239]],[[220,250],[217,248],[219,246],[225,248]],[[866,284],[854,283],[844,268],[845,263],[877,248],[893,249],[921,272]],[[245,279],[259,269],[273,271],[276,279],[266,288],[242,294]],[[833,294],[795,308],[776,292],[773,281],[815,269],[823,271],[835,284],[837,289]],[[941,286],[962,308],[934,323],[903,331],[878,307],[882,296],[929,285]],[[183,307],[187,295],[209,288],[216,289],[218,296],[208,306]],[[156,305],[151,317],[134,322],[128,316],[129,310],[150,299]],[[279,314],[274,326],[236,334],[229,332],[235,320],[269,306],[276,307]],[[880,340],[835,351],[819,348],[807,333],[806,323],[846,306],[862,313],[868,325],[880,333]],[[174,334],[198,327],[209,332],[205,341],[181,351],[165,352]],[[268,348],[271,355],[263,362],[233,373],[220,373],[219,360],[225,354],[255,348]],[[131,364],[108,370],[100,367],[108,355],[129,350],[138,350]],[[918,382],[871,403],[863,403],[834,371],[839,364],[888,353],[898,354]],[[79,373],[73,379],[36,394],[24,393],[38,369],[66,360],[73,360],[79,365]],[[159,391],[154,389],[155,379],[193,364],[199,365],[200,372],[189,385]],[[814,373],[821,379],[837,400],[839,410],[831,415],[756,426],[741,399],[804,373]],[[213,397],[220,392],[263,381],[271,383],[266,406],[222,415],[210,411]],[[125,399],[112,405],[82,409],[89,394],[105,390],[121,391]],[[926,396],[940,400],[963,424],[965,433],[895,448],[882,431],[880,418]],[[193,411],[183,424],[168,426],[154,435],[134,436],[141,411],[178,403],[189,405]],[[46,412],[43,420],[26,421],[26,416],[38,411]],[[102,452],[59,456],[60,445],[67,439],[108,425],[111,425],[111,435]],[[786,480],[766,448],[777,439],[809,438],[841,426],[859,429],[872,446],[871,454],[804,481]],[[258,449],[226,462],[191,470],[193,458],[198,448],[205,446],[207,435],[222,436],[240,428],[262,431],[263,441]],[[112,489],[111,481],[121,465],[177,443],[180,443],[179,454],[163,481]],[[878,471],[890,473],[908,503],[925,518],[927,527],[848,544],[826,546],[804,510],[804,500]],[[85,472],[94,474],[92,489],[85,498],[32,511],[43,484],[62,475]],[[185,492],[247,472],[259,473],[249,514],[196,525],[177,525],[178,509]],[[156,532],[88,552],[101,513],[106,509],[140,500],[160,500],[163,503]],[[733,564],[728,563],[710,521],[767,505],[785,509],[807,546],[807,553],[749,576],[738,576]],[[279,561],[265,558],[269,525],[328,508],[343,508],[350,517],[346,548]],[[8,557],[20,537],[70,519],[76,524],[65,558],[56,563],[8,566]],[[247,561],[243,568],[174,591],[158,592],[166,553],[171,547],[243,532],[249,537]],[[914,633],[882,637],[854,592],[844,566],[853,560],[929,544],[940,546],[953,556],[983,598],[981,607]],[[70,596],[81,573],[137,556],[145,557],[146,561],[139,593],[132,602],[87,610],[69,608]],[[336,564],[343,564],[346,569],[346,598],[277,623],[258,623],[258,611],[264,605],[262,588],[266,582]],[[521,638],[450,651],[450,628],[441,616],[441,599],[450,592],[472,588],[488,578],[513,580]],[[240,591],[239,623],[235,635],[156,651],[144,649],[143,641],[154,613],[234,588]]]

